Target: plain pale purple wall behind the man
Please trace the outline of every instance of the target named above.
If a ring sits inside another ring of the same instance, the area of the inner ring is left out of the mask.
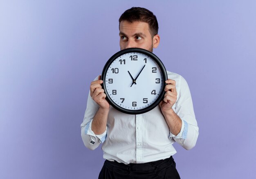
[[[200,134],[175,145],[183,179],[253,178],[256,166],[256,2],[0,1],[0,178],[95,179],[101,148],[80,124],[90,82],[119,51],[118,18],[153,11],[154,53],[189,83]]]

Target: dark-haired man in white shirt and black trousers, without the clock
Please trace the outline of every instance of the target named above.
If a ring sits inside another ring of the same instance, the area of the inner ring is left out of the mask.
[[[119,18],[120,48],[153,51],[160,42],[158,23],[148,9],[132,7]],[[139,115],[121,113],[106,101],[100,76],[90,85],[81,136],[91,150],[102,143],[106,159],[100,179],[180,178],[172,155],[176,141],[189,150],[198,138],[189,87],[182,76],[167,72],[159,106]]]

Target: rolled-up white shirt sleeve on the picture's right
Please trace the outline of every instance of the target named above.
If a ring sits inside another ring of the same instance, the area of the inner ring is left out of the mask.
[[[175,112],[182,119],[182,127],[176,136],[170,132],[169,138],[174,139],[186,150],[190,150],[195,146],[198,139],[199,128],[195,119],[189,86],[182,76],[180,76],[179,82],[176,84],[179,85],[180,90],[177,94]]]

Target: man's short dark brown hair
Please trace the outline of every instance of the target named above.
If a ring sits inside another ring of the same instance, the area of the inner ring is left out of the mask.
[[[131,9],[127,9],[119,18],[119,27],[121,21],[132,22],[146,22],[148,23],[149,31],[154,37],[158,33],[158,23],[157,18],[153,14],[153,12],[149,11],[143,7],[132,7]]]

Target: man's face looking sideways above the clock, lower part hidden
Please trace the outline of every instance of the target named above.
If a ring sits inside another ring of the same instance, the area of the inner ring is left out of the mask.
[[[155,37],[152,38],[146,22],[121,21],[119,29],[121,50],[136,47],[152,52],[153,47],[156,48],[159,44],[159,40],[156,43]]]

